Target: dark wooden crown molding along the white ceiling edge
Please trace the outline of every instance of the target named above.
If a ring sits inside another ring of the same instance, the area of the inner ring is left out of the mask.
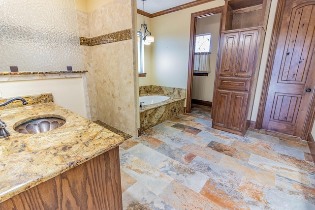
[[[175,6],[173,8],[165,9],[163,11],[156,12],[156,13],[153,13],[153,14],[150,14],[148,12],[144,12],[144,16],[146,16],[148,18],[154,18],[154,17],[158,17],[158,16],[161,16],[161,15],[165,15],[165,14],[171,13],[171,12],[176,12],[176,11],[179,11],[179,10],[182,10],[182,9],[187,9],[189,7],[197,6],[199,4],[207,3],[207,2],[210,2],[210,1],[214,1],[214,0],[195,0],[195,1],[191,1],[189,3],[185,3],[185,4],[182,4],[182,5],[179,5],[179,6]],[[137,13],[140,14],[140,15],[143,15],[143,11],[141,9],[137,9]]]

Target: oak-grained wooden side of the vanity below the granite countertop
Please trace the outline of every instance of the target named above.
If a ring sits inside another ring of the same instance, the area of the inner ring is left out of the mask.
[[[0,210],[122,210],[116,147],[0,203]]]

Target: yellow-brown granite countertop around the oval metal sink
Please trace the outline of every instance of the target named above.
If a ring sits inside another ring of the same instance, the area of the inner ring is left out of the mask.
[[[123,138],[55,103],[0,111],[10,136],[0,138],[0,202],[111,150]],[[21,134],[14,124],[35,116],[57,115],[63,126],[44,133]]]

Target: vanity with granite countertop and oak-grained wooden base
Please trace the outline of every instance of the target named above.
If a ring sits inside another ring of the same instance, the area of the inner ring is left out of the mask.
[[[55,103],[0,111],[0,209],[121,210],[119,135]],[[59,116],[54,130],[24,134],[26,120]]]

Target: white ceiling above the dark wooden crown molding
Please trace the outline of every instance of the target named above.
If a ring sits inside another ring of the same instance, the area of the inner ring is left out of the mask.
[[[195,0],[144,0],[144,11],[150,14]],[[137,9],[143,10],[143,0],[137,0]]]

